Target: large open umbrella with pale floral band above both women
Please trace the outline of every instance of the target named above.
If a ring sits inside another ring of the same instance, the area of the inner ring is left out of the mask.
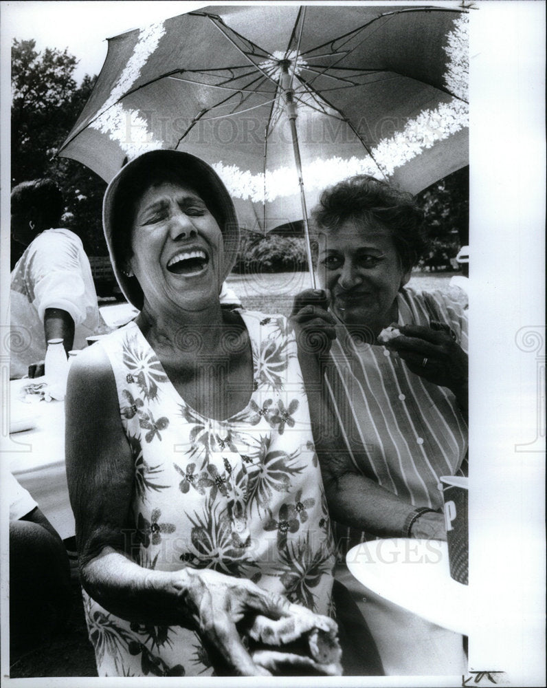
[[[205,8],[109,39],[59,155],[108,182],[182,149],[214,166],[243,226],[303,219],[308,237],[328,184],[371,173],[416,193],[468,163],[467,67],[457,8]]]

